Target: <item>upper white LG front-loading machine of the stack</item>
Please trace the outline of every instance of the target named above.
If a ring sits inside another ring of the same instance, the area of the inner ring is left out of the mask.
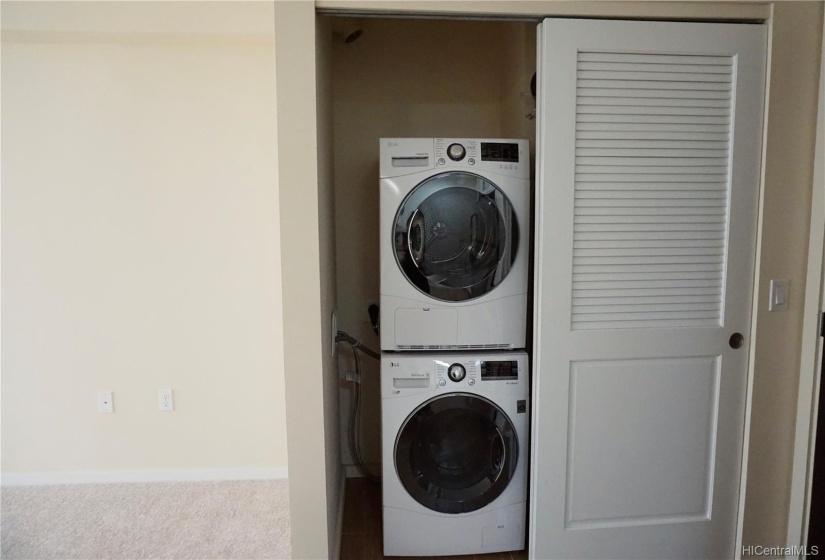
[[[525,348],[527,140],[382,138],[381,349]]]

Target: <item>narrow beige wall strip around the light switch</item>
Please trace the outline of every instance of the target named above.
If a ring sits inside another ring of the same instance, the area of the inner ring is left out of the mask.
[[[743,544],[763,546],[784,546],[788,521],[823,3],[774,10],[743,533]],[[772,278],[791,281],[787,312],[768,312]]]

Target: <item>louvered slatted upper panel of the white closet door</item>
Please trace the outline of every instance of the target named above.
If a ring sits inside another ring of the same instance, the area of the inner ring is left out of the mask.
[[[573,329],[720,324],[733,63],[579,53]]]

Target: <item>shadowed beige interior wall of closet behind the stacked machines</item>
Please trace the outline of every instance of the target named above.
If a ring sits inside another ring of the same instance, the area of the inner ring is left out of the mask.
[[[378,349],[367,307],[380,299],[378,144],[387,137],[507,137],[535,144],[536,23],[325,16],[356,40],[332,42],[338,325]],[[379,365],[361,360],[361,454],[380,472]],[[354,368],[339,347],[342,461]]]

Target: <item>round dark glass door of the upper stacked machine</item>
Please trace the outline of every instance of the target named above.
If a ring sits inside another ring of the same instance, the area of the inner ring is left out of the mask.
[[[441,173],[416,186],[393,227],[401,271],[437,300],[483,296],[516,260],[518,222],[510,200],[472,173]]]

